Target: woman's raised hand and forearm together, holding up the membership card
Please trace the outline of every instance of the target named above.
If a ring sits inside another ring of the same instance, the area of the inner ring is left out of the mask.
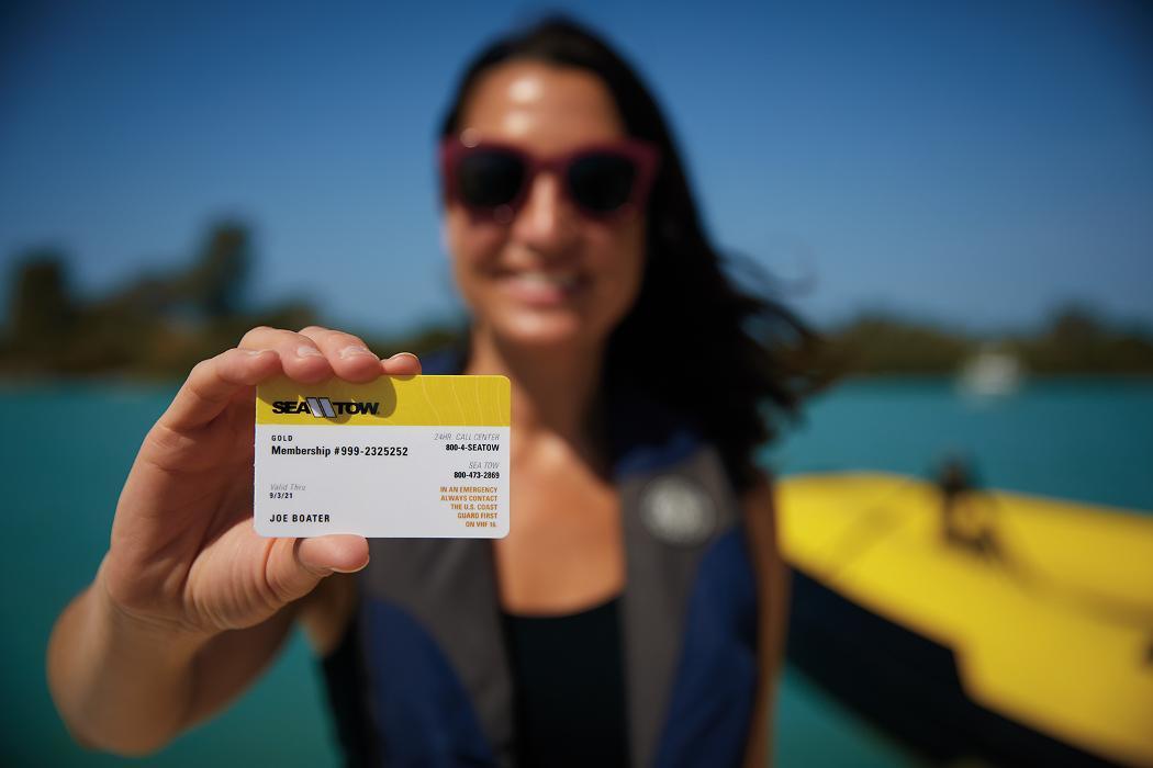
[[[193,368],[141,446],[96,580],[48,641],[48,687],[77,740],[121,754],[164,746],[267,666],[293,623],[286,606],[368,562],[361,537],[254,531],[254,387],[281,373],[317,383],[420,371],[413,355],[382,362],[316,327],[255,328]]]

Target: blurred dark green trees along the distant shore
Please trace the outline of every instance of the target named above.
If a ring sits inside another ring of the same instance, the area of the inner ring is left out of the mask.
[[[197,360],[234,345],[248,328],[322,321],[303,301],[250,307],[251,258],[247,230],[220,225],[187,268],[143,275],[105,297],[83,301],[69,286],[63,254],[30,252],[9,275],[0,375],[182,378]],[[377,351],[420,355],[445,345],[459,330],[445,322],[366,341]],[[881,313],[826,328],[823,336],[820,364],[837,375],[952,374],[990,343],[1030,375],[1153,375],[1148,328],[1118,327],[1079,306],[1056,312],[1039,332],[995,339]]]

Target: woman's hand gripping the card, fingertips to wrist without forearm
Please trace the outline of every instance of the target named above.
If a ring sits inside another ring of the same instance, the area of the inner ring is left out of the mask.
[[[309,327],[255,328],[198,364],[148,433],[125,484],[98,586],[134,619],[211,636],[253,626],[332,572],[368,563],[357,535],[266,539],[253,530],[255,385],[284,373],[368,382],[420,373],[380,360],[356,336]]]

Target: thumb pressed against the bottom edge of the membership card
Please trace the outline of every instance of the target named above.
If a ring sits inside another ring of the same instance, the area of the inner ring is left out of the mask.
[[[288,545],[291,546],[284,546]],[[368,541],[353,534],[282,539],[269,557],[267,579],[285,602],[303,598],[332,573],[352,573],[368,565]]]

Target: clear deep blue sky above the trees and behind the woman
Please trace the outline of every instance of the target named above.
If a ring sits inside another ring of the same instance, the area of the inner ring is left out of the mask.
[[[233,216],[256,301],[444,317],[435,124],[483,40],[552,8],[639,66],[715,239],[812,319],[995,329],[1083,301],[1153,324],[1153,14],[1097,0],[17,3],[0,267],[56,246],[98,295]]]

